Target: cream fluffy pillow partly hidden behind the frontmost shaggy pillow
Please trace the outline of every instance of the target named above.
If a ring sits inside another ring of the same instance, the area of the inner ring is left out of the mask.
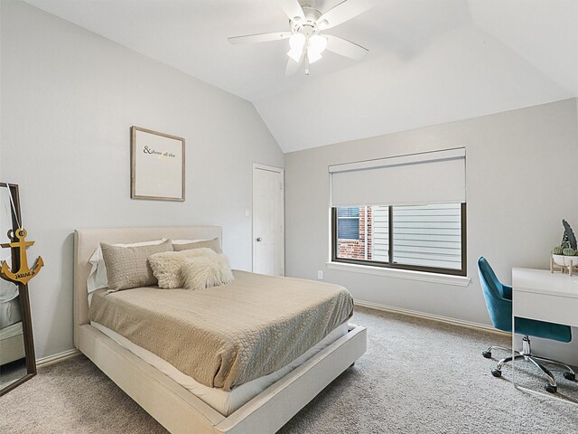
[[[150,256],[148,264],[151,266],[151,269],[153,269],[154,277],[159,281],[159,288],[183,288],[182,264],[187,258],[196,258],[199,256],[217,256],[217,253],[208,248],[165,251]]]

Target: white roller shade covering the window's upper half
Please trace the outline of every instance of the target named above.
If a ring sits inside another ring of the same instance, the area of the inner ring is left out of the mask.
[[[330,165],[331,206],[466,202],[465,148]]]

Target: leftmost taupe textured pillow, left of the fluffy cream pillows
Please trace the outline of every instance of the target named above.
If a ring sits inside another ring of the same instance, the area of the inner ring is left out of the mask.
[[[108,292],[156,285],[147,260],[154,253],[172,251],[170,240],[154,246],[118,247],[100,243],[107,264]]]

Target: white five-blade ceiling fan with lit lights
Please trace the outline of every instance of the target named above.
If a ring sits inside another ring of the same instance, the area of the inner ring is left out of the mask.
[[[363,14],[375,4],[375,0],[343,0],[339,5],[322,13],[315,7],[315,0],[279,0],[284,13],[289,17],[288,32],[248,34],[228,38],[230,43],[253,43],[289,40],[289,60],[285,75],[292,75],[305,63],[305,75],[309,65],[322,58],[326,49],[341,56],[359,61],[368,49],[345,39],[324,33],[336,25]]]

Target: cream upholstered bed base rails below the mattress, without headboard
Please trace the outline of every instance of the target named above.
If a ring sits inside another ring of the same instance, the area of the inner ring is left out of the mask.
[[[366,328],[350,332],[225,417],[92,325],[79,350],[173,434],[275,433],[366,351]]]

